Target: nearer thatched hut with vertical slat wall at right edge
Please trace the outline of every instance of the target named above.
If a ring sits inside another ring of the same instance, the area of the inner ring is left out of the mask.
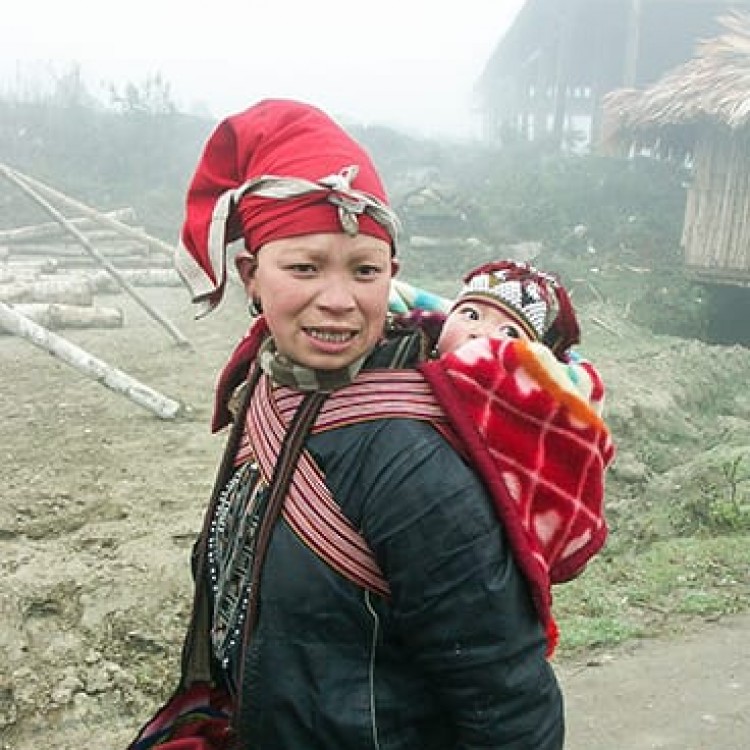
[[[750,14],[652,86],[604,100],[607,149],[649,149],[691,165],[682,245],[706,283],[750,286]]]

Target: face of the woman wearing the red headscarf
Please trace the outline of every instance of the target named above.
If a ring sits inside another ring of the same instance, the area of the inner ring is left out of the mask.
[[[346,367],[383,335],[397,263],[369,235],[308,234],[274,240],[243,273],[278,351],[316,370]]]

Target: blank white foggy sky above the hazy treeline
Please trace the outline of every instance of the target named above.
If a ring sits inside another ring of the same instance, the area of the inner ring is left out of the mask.
[[[222,118],[264,97],[418,135],[478,133],[472,87],[524,0],[11,0],[0,91],[78,63],[102,82],[159,72],[182,109]]]

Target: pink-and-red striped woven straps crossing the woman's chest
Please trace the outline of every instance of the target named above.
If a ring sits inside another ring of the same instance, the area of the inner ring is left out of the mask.
[[[235,464],[255,458],[266,479],[273,476],[281,442],[303,394],[274,386],[262,375],[247,410],[245,431]],[[410,418],[447,429],[445,415],[421,373],[414,370],[366,370],[334,391],[325,402],[313,434],[375,419]],[[388,597],[390,589],[372,550],[342,513],[325,477],[303,450],[282,510],[297,536],[331,567],[357,585]]]

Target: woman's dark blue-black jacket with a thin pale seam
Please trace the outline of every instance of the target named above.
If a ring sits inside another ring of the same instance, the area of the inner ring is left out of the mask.
[[[308,439],[389,581],[385,601],[283,520],[245,654],[243,750],[559,750],[562,697],[489,498],[428,424]]]

